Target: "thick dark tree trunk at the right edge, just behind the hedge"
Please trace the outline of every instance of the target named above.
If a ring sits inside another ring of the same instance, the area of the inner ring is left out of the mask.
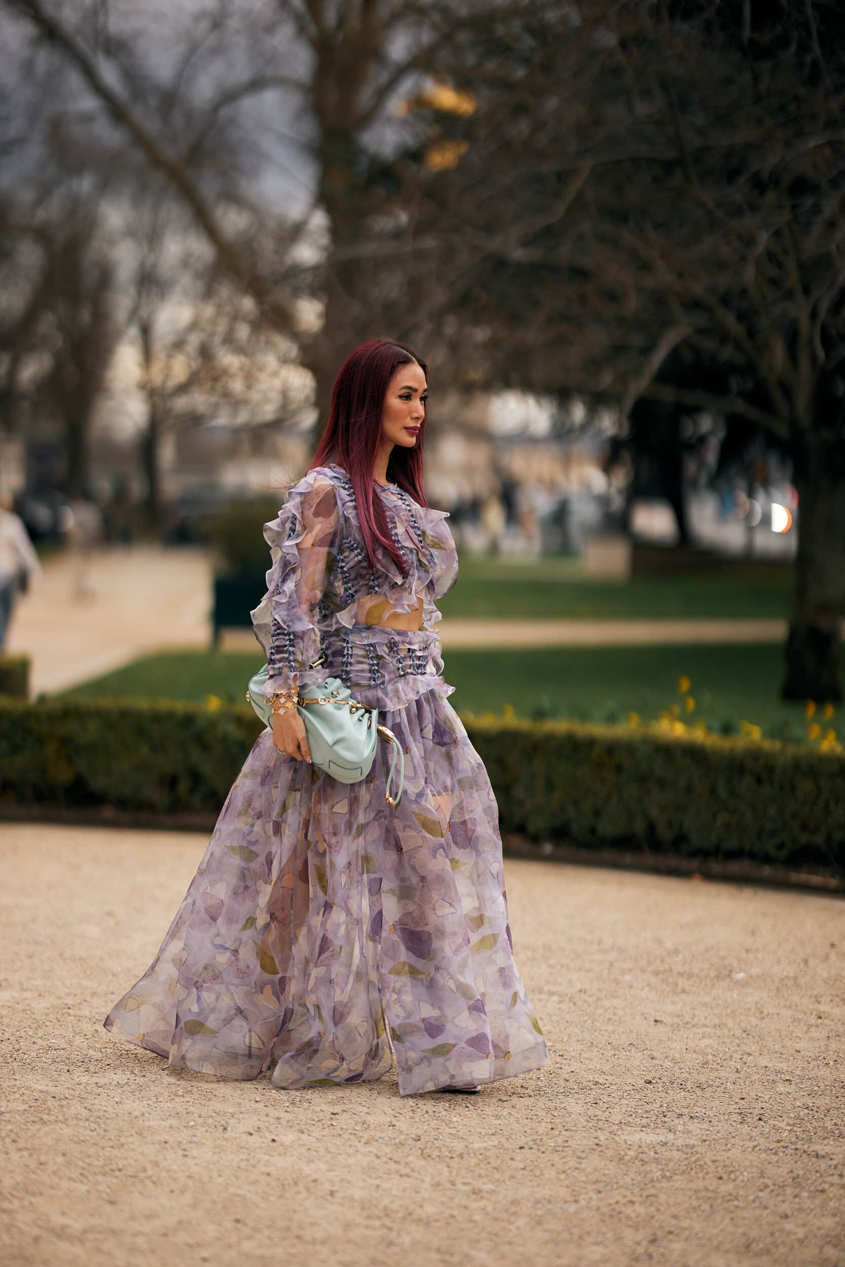
[[[783,699],[842,698],[845,616],[845,462],[831,441],[796,455],[798,554]]]

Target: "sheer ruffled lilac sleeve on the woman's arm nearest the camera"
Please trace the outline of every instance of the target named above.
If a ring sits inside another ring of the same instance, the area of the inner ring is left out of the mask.
[[[279,517],[264,526],[272,563],[267,593],[251,617],[267,656],[267,693],[300,685],[321,654],[314,617],[334,565],[338,533],[334,488],[310,473],[291,488]]]

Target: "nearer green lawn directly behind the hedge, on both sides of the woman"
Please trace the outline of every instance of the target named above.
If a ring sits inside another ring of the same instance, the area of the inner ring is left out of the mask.
[[[241,651],[175,651],[137,660],[72,691],[75,697],[158,696],[204,702],[206,694],[245,703],[246,683],[262,663]],[[517,716],[623,720],[627,711],[644,720],[678,702],[678,678],[687,674],[696,699],[693,713],[708,726],[754,722],[764,734],[792,737],[804,730],[801,704],[778,699],[780,644],[687,644],[680,646],[517,647],[452,650],[445,677],[459,712],[499,713],[512,704]],[[837,725],[837,718],[826,725]]]

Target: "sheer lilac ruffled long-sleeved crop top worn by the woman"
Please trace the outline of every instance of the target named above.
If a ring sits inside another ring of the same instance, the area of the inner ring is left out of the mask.
[[[370,565],[352,481],[334,462],[312,468],[289,489],[277,517],[264,525],[271,557],[267,592],[250,614],[267,656],[269,691],[321,682],[324,666],[310,672],[307,666],[326,654],[327,644],[345,637],[351,641],[345,631],[355,631],[356,641],[372,646],[390,635],[400,641],[405,631],[381,621],[390,612],[417,612],[419,598],[422,626],[410,641],[437,641],[435,625],[442,614],[436,603],[457,580],[448,512],[419,506],[395,484],[376,488],[390,536],[409,565],[407,576],[386,551],[375,568]],[[442,668],[442,660],[438,663]],[[378,684],[375,678],[371,683]],[[409,698],[408,689],[395,702],[384,692],[370,694],[362,702],[380,707],[397,707]]]

